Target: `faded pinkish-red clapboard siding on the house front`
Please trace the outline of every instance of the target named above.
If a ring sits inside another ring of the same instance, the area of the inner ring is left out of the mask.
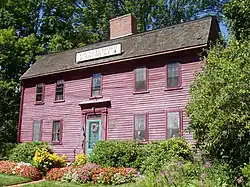
[[[103,75],[103,99],[111,100],[107,112],[107,128],[103,125],[108,139],[133,139],[134,114],[140,113],[148,114],[149,140],[165,139],[166,110],[183,110],[183,127],[188,126],[189,119],[184,112],[188,103],[188,90],[194,74],[201,70],[203,64],[196,57],[198,52],[190,50],[171,56],[128,61],[24,82],[21,141],[32,141],[34,120],[43,120],[42,141],[51,142],[53,120],[63,119],[62,145],[53,145],[53,149],[73,160],[74,154],[82,151],[84,144],[84,117],[79,103],[90,100],[91,76],[96,72]],[[182,87],[166,90],[166,64],[172,61],[181,63]],[[136,94],[134,69],[142,65],[148,68],[148,93]],[[55,81],[60,79],[65,81],[65,101],[56,103]],[[35,105],[35,85],[39,82],[45,83],[43,105]],[[193,143],[191,134],[184,132],[183,136]]]

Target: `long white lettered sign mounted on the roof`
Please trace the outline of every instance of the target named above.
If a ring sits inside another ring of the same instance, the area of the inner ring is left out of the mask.
[[[116,44],[116,45],[111,45],[107,47],[102,47],[98,49],[76,53],[76,62],[83,62],[87,60],[117,55],[121,53],[122,53],[122,45]]]

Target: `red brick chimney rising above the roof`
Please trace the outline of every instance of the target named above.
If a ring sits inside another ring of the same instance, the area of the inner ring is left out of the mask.
[[[110,39],[120,38],[137,33],[136,18],[126,14],[110,20]]]

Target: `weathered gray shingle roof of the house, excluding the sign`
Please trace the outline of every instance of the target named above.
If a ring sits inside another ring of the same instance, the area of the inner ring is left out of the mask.
[[[134,57],[157,54],[161,52],[185,49],[192,46],[207,45],[211,28],[216,22],[214,17],[181,23],[178,25],[147,31],[127,37],[100,42],[82,48],[42,56],[22,76],[21,80],[39,77],[75,69],[125,61]],[[122,54],[76,63],[77,52],[88,51],[105,46],[122,45]]]

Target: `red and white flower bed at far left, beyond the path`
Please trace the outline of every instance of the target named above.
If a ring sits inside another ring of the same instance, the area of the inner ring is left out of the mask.
[[[27,163],[15,163],[10,161],[0,161],[0,173],[8,175],[18,175],[32,180],[41,179],[37,168]]]

